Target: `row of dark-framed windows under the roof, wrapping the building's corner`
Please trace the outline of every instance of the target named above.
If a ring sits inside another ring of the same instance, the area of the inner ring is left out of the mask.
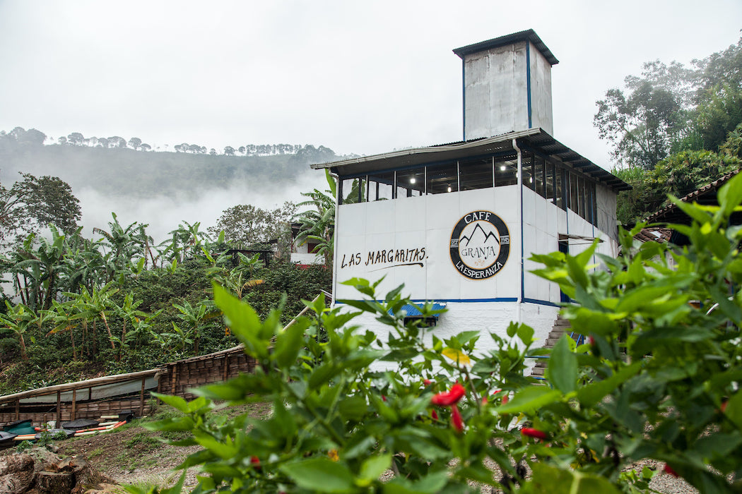
[[[543,156],[522,152],[523,186],[597,225],[595,182]],[[340,204],[503,187],[518,183],[516,155],[489,156],[341,177]]]

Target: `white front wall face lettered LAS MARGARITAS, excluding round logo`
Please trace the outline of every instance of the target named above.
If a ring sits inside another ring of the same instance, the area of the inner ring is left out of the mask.
[[[488,279],[462,276],[450,257],[453,228],[467,213],[490,211],[520,238],[518,187],[495,187],[393,201],[343,204],[338,207],[335,247],[336,298],[352,298],[355,290],[337,281],[385,276],[378,290],[399,284],[416,300],[488,300],[517,298],[520,293],[520,241],[510,244],[502,269]],[[404,259],[397,253],[404,252]],[[395,258],[388,261],[389,254]],[[386,254],[386,255],[385,255]],[[371,256],[371,258],[370,258]]]

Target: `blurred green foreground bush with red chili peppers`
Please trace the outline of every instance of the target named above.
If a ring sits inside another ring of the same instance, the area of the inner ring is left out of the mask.
[[[180,466],[199,467],[199,493],[638,493],[654,474],[631,467],[646,458],[700,492],[738,492],[742,228],[728,221],[742,204],[742,176],[719,199],[720,207],[677,202],[695,220],[674,225],[690,240],[683,251],[634,245],[639,225],[622,231],[622,257],[599,256],[603,269],[588,267],[597,244],[577,256],[533,256],[544,266],[535,273],[577,302],[564,314],[588,341],[558,341],[549,386],[523,376],[531,328],[511,324],[509,339],[472,328],[441,340],[404,325],[411,301],[402,287],[382,299],[378,283],[350,280],[365,300],[309,304],[312,317],[285,330],[277,311],[260,318],[214,287],[255,373],[203,387],[190,402],[160,396],[183,415],[151,427],[188,432],[177,444],[202,448]],[[433,316],[431,304],[420,308]],[[387,341],[353,324],[361,313],[390,327]],[[478,352],[482,337],[495,350]],[[257,401],[272,402],[272,415],[208,420]]]

